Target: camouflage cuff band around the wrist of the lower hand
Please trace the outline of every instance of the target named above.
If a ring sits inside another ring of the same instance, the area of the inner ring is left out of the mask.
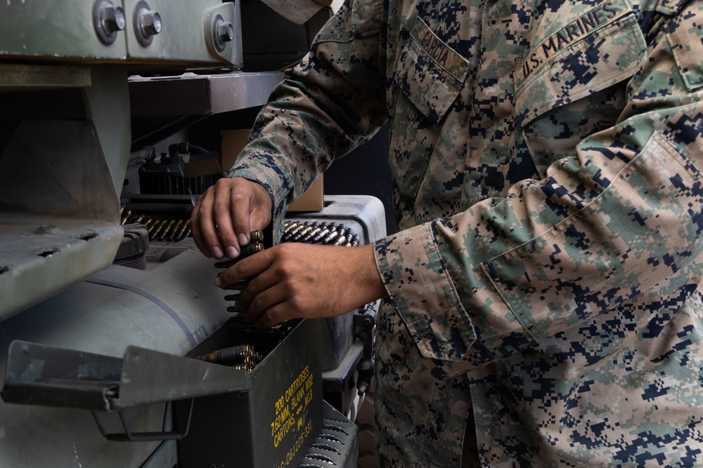
[[[375,259],[389,300],[420,353],[443,361],[464,356],[476,335],[430,224],[375,242]]]

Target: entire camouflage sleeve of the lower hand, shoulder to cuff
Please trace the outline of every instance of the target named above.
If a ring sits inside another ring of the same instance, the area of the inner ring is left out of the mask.
[[[376,243],[390,300],[436,377],[699,283],[702,24],[700,1],[666,21],[619,123],[545,178]]]

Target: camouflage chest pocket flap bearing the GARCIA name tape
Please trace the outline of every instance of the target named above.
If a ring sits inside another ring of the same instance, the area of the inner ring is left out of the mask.
[[[468,69],[468,60],[418,18],[401,52],[394,82],[420,112],[440,121],[463,87]]]

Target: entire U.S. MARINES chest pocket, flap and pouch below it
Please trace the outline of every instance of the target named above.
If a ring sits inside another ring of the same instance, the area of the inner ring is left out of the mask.
[[[531,48],[515,73],[515,110],[541,177],[583,138],[617,122],[625,80],[646,50],[625,0],[595,6]]]

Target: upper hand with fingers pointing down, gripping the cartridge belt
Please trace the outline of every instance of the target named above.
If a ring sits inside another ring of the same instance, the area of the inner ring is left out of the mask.
[[[271,222],[271,196],[244,178],[220,179],[195,203],[191,229],[195,245],[209,258],[237,258],[252,230]]]

